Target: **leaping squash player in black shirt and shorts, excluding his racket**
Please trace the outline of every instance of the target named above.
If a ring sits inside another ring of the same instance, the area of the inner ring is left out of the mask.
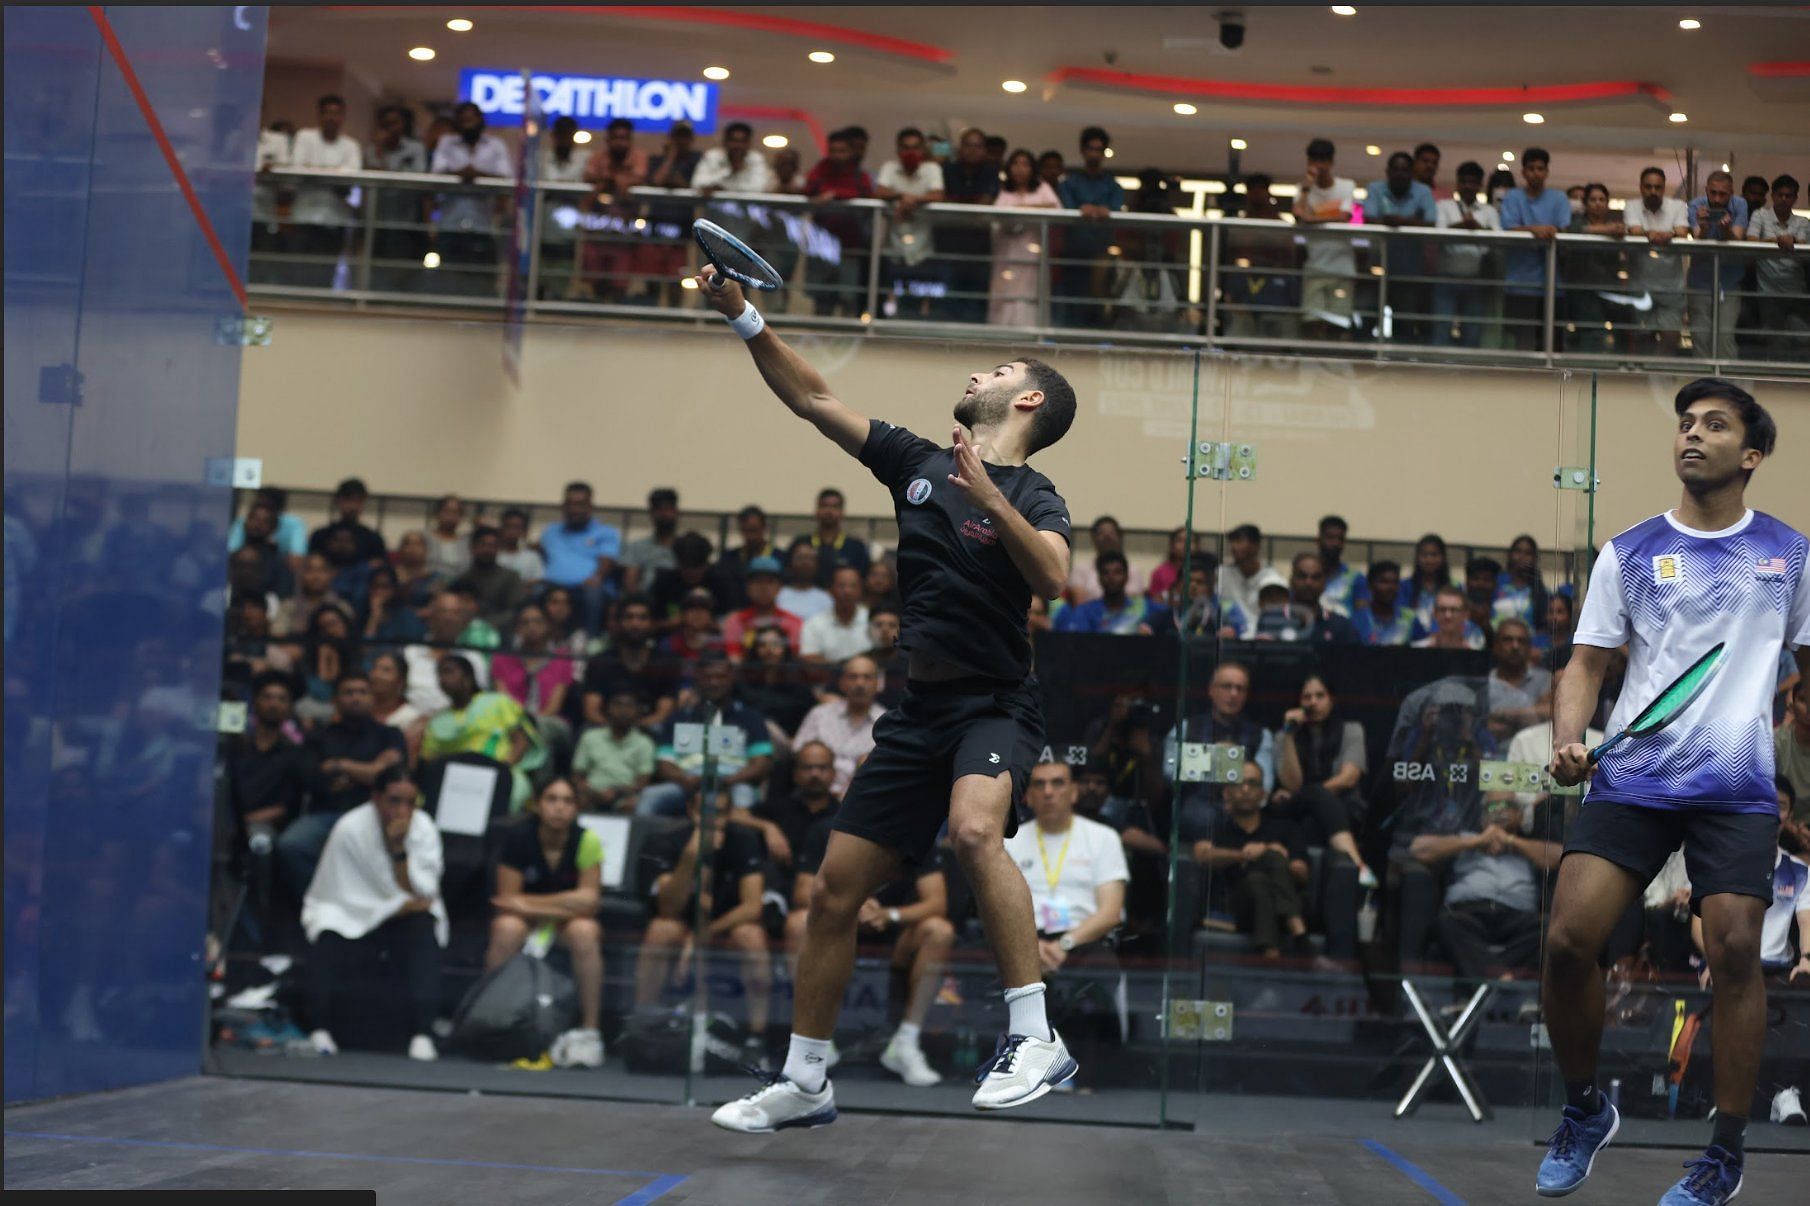
[[[952,447],[938,447],[851,411],[766,330],[740,286],[713,281],[699,273],[699,290],[748,342],[767,388],[892,493],[910,681],[874,724],[874,751],[836,813],[798,956],[786,1070],[711,1121],[740,1132],[836,1121],[829,1039],[854,971],[856,918],[876,887],[930,857],[945,820],[1010,1012],[974,1105],[1035,1101],[1073,1076],[1075,1061],[1044,1016],[1030,889],[1005,838],[1043,750],[1024,619],[1032,592],[1055,598],[1068,581],[1070,527],[1061,494],[1024,462],[1068,431],[1075,391],[1041,360],[974,373],[956,402]]]

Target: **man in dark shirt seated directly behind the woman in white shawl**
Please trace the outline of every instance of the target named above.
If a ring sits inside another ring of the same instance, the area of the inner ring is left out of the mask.
[[[333,721],[310,733],[306,748],[322,782],[308,811],[277,837],[277,862],[297,893],[306,893],[315,878],[315,864],[338,818],[373,799],[384,771],[409,761],[402,730],[371,717],[371,677],[355,666],[333,688]]]

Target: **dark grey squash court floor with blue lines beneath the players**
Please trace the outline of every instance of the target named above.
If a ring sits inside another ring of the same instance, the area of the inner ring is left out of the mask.
[[[1531,1119],[1314,1117],[1227,1099],[1200,1128],[843,1114],[731,1135],[702,1110],[192,1077],[5,1112],[7,1190],[369,1188],[384,1206],[498,1202],[1533,1202]],[[1651,1204],[1674,1150],[1613,1150],[1573,1199]],[[1743,1201],[1803,1202],[1810,1157],[1754,1155]]]

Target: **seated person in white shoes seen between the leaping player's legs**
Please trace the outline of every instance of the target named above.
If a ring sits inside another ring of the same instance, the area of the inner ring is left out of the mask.
[[[786,916],[786,943],[796,960],[804,931],[811,920],[816,873],[831,842],[831,817],[811,826],[798,853],[793,907]],[[912,1088],[941,1083],[941,1074],[923,1054],[925,1018],[936,1001],[938,985],[948,971],[948,952],[956,945],[956,927],[948,924],[948,882],[943,876],[941,847],[918,867],[900,873],[874,889],[856,914],[856,942],[892,945],[889,1012],[900,1010],[900,1025],[880,1052],[880,1067]],[[795,972],[796,978],[796,972]]]

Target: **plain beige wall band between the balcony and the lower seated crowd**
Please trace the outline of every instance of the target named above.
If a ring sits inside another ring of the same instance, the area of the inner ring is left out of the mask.
[[[518,391],[501,371],[496,322],[264,310],[277,315],[275,339],[244,357],[239,455],[261,456],[273,483],[331,489],[360,474],[380,493],[554,502],[563,482],[588,478],[612,505],[670,483],[695,509],[758,502],[791,512],[834,483],[851,514],[891,514],[880,485],[787,415],[717,328],[534,324]],[[1012,353],[827,335],[793,342],[849,406],[936,440],[948,438],[965,375]],[[1108,511],[1129,527],[1180,523],[1193,359],[1041,355],[1081,398],[1070,436],[1035,462],[1077,525]],[[1683,378],[1602,378],[1598,543],[1676,500],[1671,395]],[[1354,540],[1439,531],[1506,545],[1528,531],[1569,547],[1584,496],[1555,491],[1551,471],[1584,460],[1589,384],[1544,371],[1205,359],[1200,435],[1254,442],[1258,474],[1198,489],[1196,525],[1253,520],[1310,532],[1339,511]],[[1781,440],[1752,503],[1810,527],[1810,384],[1756,393]]]

